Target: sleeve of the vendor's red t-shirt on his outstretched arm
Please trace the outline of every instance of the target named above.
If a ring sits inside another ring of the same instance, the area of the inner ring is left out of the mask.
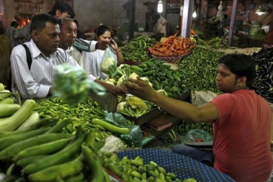
[[[223,93],[215,97],[211,103],[213,103],[218,110],[218,120],[230,116],[234,109],[234,100],[230,93]]]

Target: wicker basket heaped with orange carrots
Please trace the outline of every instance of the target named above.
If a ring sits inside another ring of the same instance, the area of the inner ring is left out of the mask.
[[[153,57],[166,62],[176,63],[189,55],[194,47],[194,42],[189,38],[177,37],[177,34],[174,34],[148,49]]]

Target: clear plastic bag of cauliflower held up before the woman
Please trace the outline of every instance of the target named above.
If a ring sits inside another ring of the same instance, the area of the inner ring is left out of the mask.
[[[102,62],[100,63],[100,70],[110,76],[116,75],[117,72],[116,56],[111,51],[109,45],[104,51]]]

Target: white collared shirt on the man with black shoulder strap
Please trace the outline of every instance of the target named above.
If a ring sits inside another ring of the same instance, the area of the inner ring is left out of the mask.
[[[14,47],[10,57],[12,91],[17,90],[22,99],[46,97],[49,93],[49,88],[53,86],[52,71],[56,66],[63,63],[79,66],[61,48],[58,48],[56,52],[50,53],[49,57],[46,57],[33,40],[24,44],[28,46],[32,56],[30,70],[26,60],[25,48],[22,45]],[[96,79],[93,75],[89,75],[89,78],[93,81]]]

